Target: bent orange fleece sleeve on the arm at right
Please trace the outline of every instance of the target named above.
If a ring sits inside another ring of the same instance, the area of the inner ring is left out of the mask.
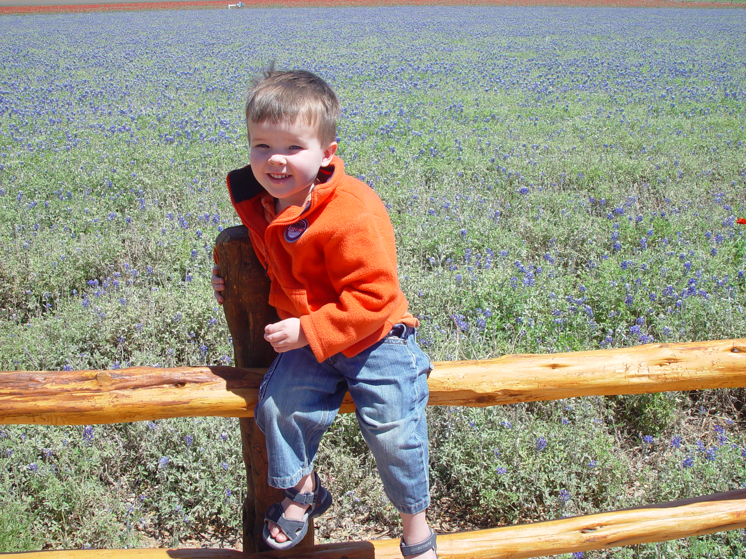
[[[357,215],[327,241],[324,257],[339,299],[301,317],[319,362],[380,331],[404,301],[388,215]]]

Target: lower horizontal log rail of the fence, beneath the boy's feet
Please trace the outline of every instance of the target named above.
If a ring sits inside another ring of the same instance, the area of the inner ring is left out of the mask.
[[[441,559],[527,559],[746,528],[746,490],[625,511],[438,535]],[[242,555],[219,549],[121,549],[0,554],[8,559],[400,559],[399,540],[299,546]]]

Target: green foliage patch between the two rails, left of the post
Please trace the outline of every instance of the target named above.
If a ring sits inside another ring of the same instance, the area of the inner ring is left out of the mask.
[[[22,531],[17,545],[28,549],[40,542],[66,549],[178,545],[206,531],[235,541],[245,495],[236,424],[206,417],[8,426],[0,431],[0,486],[14,514],[0,522]],[[11,551],[16,543],[3,545]]]

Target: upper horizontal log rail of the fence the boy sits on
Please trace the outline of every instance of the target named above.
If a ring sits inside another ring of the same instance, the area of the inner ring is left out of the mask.
[[[236,359],[238,356],[236,353]],[[90,425],[163,417],[251,417],[265,371],[234,367],[0,371],[0,424]],[[435,363],[428,384],[429,405],[471,407],[744,387],[746,340],[443,361]],[[354,411],[349,395],[340,411]]]

